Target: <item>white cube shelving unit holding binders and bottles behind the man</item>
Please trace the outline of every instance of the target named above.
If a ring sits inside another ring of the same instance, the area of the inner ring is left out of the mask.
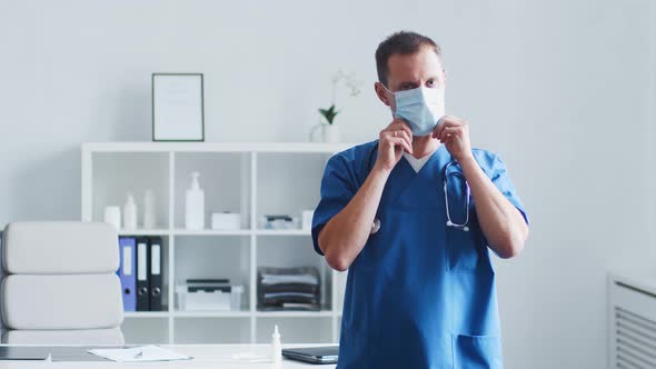
[[[352,144],[102,142],[82,146],[82,220],[102,221],[105,207],[132,192],[141,218],[146,189],[155,192],[156,229],[121,236],[163,239],[165,311],[127,312],[128,343],[269,342],[274,325],[287,342],[336,342],[346,275],[327,267],[302,229],[258,229],[258,217],[298,216],[319,201],[326,161]],[[185,191],[201,173],[206,228],[211,212],[241,213],[233,231],[183,227]],[[141,219],[140,219],[141,220]],[[141,226],[141,225],[140,225]],[[321,275],[320,311],[258,311],[257,268],[314,266]],[[175,285],[188,278],[230,278],[245,286],[240,311],[180,311]]]

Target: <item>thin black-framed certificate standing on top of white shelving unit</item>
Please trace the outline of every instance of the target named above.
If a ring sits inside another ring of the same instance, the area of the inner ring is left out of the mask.
[[[152,140],[205,141],[202,73],[152,73]]]

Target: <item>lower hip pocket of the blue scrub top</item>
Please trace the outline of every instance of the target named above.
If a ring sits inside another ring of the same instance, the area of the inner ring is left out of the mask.
[[[498,336],[454,335],[455,369],[503,369],[501,339]]]

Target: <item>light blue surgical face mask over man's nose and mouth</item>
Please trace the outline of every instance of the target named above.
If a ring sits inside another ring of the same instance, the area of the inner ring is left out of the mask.
[[[444,88],[418,87],[411,90],[391,92],[390,108],[395,118],[410,124],[413,136],[430,134],[437,122],[445,116]]]

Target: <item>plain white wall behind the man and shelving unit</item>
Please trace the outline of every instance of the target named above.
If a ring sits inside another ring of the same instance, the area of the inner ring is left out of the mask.
[[[605,272],[654,261],[647,0],[0,1],[0,225],[80,216],[83,141],[150,140],[150,73],[206,76],[209,141],[302,141],[338,67],[344,140],[376,137],[374,50],[443,43],[448,111],[500,152],[531,238],[498,262],[508,368],[603,368]]]

